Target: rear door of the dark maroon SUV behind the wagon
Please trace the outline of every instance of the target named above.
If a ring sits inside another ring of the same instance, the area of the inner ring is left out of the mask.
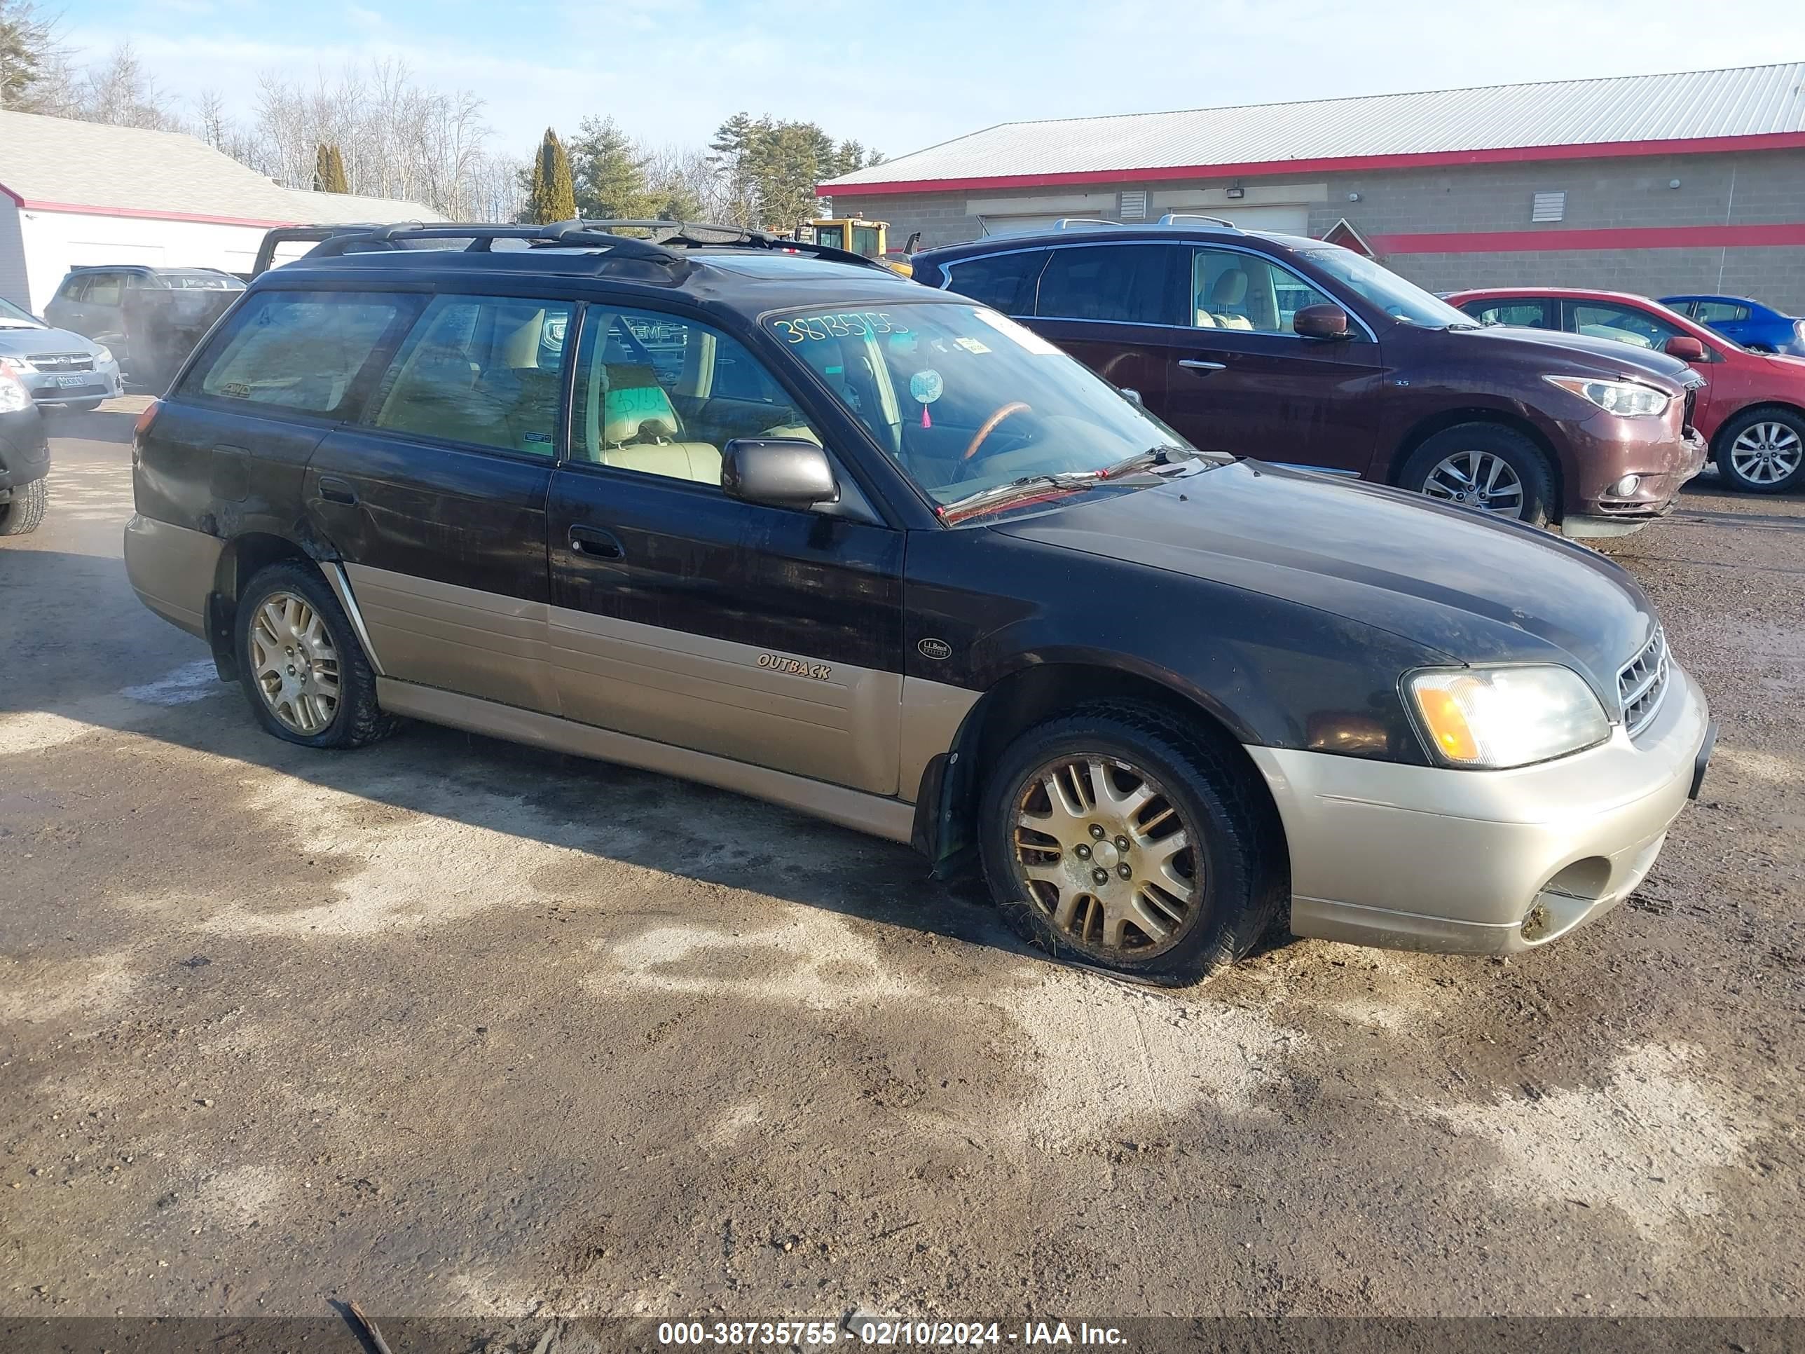
[[[1171,338],[1182,320],[1175,278],[1184,255],[1182,246],[1159,240],[1052,246],[1027,323],[1161,412]]]

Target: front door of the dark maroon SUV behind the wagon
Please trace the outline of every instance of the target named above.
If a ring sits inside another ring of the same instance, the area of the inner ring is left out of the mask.
[[[1184,327],[1166,338],[1166,422],[1206,451],[1354,475],[1372,466],[1379,345],[1303,338],[1305,305],[1330,298],[1280,264],[1240,249],[1188,247]]]

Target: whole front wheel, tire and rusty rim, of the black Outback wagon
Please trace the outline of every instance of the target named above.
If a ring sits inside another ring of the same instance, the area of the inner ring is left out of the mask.
[[[1256,787],[1182,720],[1099,704],[1023,733],[982,796],[984,876],[1060,959],[1161,986],[1247,953],[1285,895]]]

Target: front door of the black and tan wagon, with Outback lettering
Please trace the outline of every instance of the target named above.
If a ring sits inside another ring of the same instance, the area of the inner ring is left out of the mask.
[[[653,341],[680,352],[653,363]],[[760,433],[821,441],[738,339],[682,316],[587,309],[549,509],[560,706],[895,794],[902,533],[729,498],[722,448]]]

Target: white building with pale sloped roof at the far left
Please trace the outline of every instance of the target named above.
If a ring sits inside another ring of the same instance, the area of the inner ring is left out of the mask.
[[[78,264],[245,271],[271,226],[440,220],[298,193],[182,132],[0,112],[0,296],[42,311]]]

